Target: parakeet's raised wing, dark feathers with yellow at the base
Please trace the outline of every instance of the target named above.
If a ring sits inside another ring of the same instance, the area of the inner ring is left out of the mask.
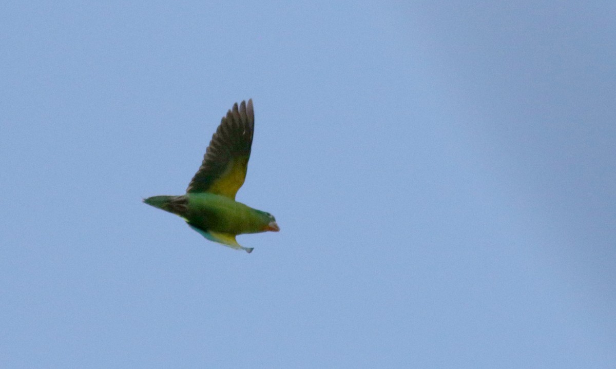
[[[233,104],[233,110],[222,117],[186,192],[210,192],[235,200],[246,178],[253,132],[253,100],[248,100],[248,105],[242,101],[239,109]]]

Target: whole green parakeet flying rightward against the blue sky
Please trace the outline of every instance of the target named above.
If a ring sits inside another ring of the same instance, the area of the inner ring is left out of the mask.
[[[153,196],[144,203],[182,217],[208,240],[250,253],[253,248],[241,246],[235,236],[280,230],[272,214],[235,201],[246,177],[253,132],[253,100],[242,101],[239,108],[233,104],[222,117],[185,195]]]

